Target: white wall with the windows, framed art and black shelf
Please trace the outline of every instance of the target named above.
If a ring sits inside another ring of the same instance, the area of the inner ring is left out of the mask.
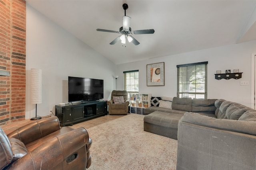
[[[170,55],[147,61],[126,63],[117,65],[117,89],[123,89],[123,71],[139,70],[139,91],[140,93],[151,93],[152,96],[177,96],[177,68],[178,64],[197,63],[208,61],[208,98],[225,99],[238,102],[251,107],[251,56],[256,52],[256,41],[227,45]],[[147,86],[146,65],[164,62],[165,86]],[[239,69],[243,72],[242,78],[235,80],[216,80],[216,70]],[[240,86],[240,81],[249,81],[248,86]]]

